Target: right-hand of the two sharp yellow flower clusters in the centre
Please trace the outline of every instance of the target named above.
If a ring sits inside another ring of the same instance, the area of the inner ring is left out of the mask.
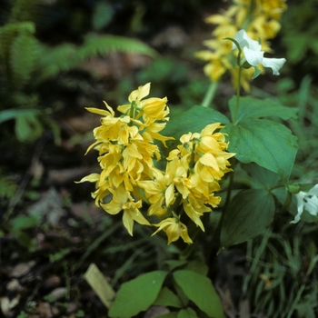
[[[225,152],[228,144],[224,134],[215,132],[222,127],[219,123],[208,124],[201,134],[184,134],[180,138],[182,144],[167,157],[165,173],[156,170],[153,180],[138,182],[151,204],[148,214],[169,216],[154,224],[159,227],[154,234],[164,230],[168,243],[180,236],[184,242],[192,243],[186,226],[180,222],[183,212],[204,231],[200,217],[221,201],[214,192],[220,190],[218,182],[224,174],[232,171],[228,159],[234,156]]]

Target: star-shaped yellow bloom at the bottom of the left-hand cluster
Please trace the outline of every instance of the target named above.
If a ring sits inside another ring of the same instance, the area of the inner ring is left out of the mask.
[[[110,190],[113,194],[113,200],[109,204],[101,204],[104,211],[108,214],[119,214],[124,211],[123,224],[130,235],[133,236],[134,221],[150,225],[144,215],[139,211],[142,207],[142,201],[134,202],[131,195],[120,185],[116,190]]]

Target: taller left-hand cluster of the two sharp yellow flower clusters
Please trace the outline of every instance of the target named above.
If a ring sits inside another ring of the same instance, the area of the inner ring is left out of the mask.
[[[129,95],[130,104],[118,106],[123,115],[114,116],[114,110],[105,104],[108,110],[86,108],[89,112],[102,115],[102,125],[94,129],[95,142],[92,148],[99,152],[98,162],[101,174],[85,176],[81,182],[95,182],[96,191],[92,194],[97,206],[102,206],[109,214],[118,214],[122,210],[123,223],[129,234],[133,234],[134,221],[150,225],[139,211],[142,201],[135,202],[138,180],[154,176],[154,156],[160,159],[159,148],[154,140],[164,144],[174,138],[159,134],[164,129],[169,114],[167,99],[147,98],[150,83],[140,86]],[[156,123],[160,121],[161,123]],[[86,152],[86,154],[87,154]],[[104,200],[113,194],[110,203]]]

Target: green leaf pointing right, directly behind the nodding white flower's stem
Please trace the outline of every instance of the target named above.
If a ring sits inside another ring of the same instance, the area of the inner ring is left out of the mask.
[[[234,124],[245,121],[248,118],[257,119],[269,116],[279,117],[283,120],[297,118],[298,108],[285,107],[268,98],[256,99],[251,96],[240,97],[239,103]],[[232,118],[234,117],[235,104],[236,96],[233,96],[229,101]]]

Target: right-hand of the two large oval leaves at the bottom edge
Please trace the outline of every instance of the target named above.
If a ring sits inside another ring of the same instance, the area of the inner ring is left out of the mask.
[[[214,318],[224,318],[224,312],[214,285],[204,275],[188,270],[173,273],[174,281],[204,313]]]

